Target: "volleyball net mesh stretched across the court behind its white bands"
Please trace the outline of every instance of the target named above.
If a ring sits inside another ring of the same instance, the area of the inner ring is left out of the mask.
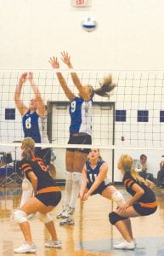
[[[93,148],[106,150],[159,150],[164,152],[164,72],[57,70],[69,88],[78,94],[71,79],[76,72],[82,84],[99,87],[109,74],[117,84],[109,98],[93,97]],[[0,151],[20,146],[24,138],[22,119],[15,107],[14,91],[20,75],[27,70],[0,70]],[[48,108],[50,148],[75,148],[67,145],[69,138],[69,104],[55,70],[33,70],[33,78]],[[28,107],[34,97],[30,82],[23,84],[21,99]],[[90,148],[85,145],[85,148]],[[76,145],[82,148],[82,145]]]

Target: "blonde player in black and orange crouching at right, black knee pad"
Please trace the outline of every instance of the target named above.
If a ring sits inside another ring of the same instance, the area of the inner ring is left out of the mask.
[[[132,197],[119,207],[115,212],[110,212],[110,223],[116,225],[117,230],[122,234],[124,241],[116,243],[116,249],[134,249],[132,230],[127,226],[127,218],[146,216],[156,212],[156,195],[149,188],[149,184],[133,167],[133,159],[127,154],[123,154],[118,160],[118,169],[123,175],[123,183],[127,192]]]

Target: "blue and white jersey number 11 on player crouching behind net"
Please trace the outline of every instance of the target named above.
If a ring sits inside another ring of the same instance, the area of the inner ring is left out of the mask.
[[[98,177],[99,175],[99,169],[100,167],[105,163],[104,160],[99,160],[97,163],[97,166],[95,166],[94,168],[90,165],[90,162],[87,161],[86,162],[86,168],[87,168],[87,183],[89,186],[91,186],[94,182],[96,177]],[[110,178],[109,177],[105,177],[105,180],[99,184],[100,185],[107,185],[108,183],[110,183]]]

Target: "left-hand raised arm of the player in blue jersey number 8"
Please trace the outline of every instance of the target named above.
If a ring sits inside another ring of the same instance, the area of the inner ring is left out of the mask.
[[[26,78],[27,78],[27,73],[22,73],[22,75],[20,76],[19,82],[16,85],[16,90],[14,92],[14,102],[16,104],[16,108],[18,108],[18,110],[22,116],[28,110],[28,108],[25,106],[24,102],[20,99],[22,86],[25,83]]]

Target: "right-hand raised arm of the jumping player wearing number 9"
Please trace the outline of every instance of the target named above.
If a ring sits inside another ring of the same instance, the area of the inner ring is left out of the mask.
[[[69,67],[69,68],[73,68],[72,64],[71,64],[71,56],[68,55],[67,52],[63,51],[61,52],[62,58],[61,60]],[[80,81],[80,79],[78,78],[76,73],[71,73],[71,79],[73,80],[73,83],[76,86],[76,89],[79,90],[79,92],[81,93],[81,95],[83,95],[84,91],[83,91],[83,86],[82,83]]]

